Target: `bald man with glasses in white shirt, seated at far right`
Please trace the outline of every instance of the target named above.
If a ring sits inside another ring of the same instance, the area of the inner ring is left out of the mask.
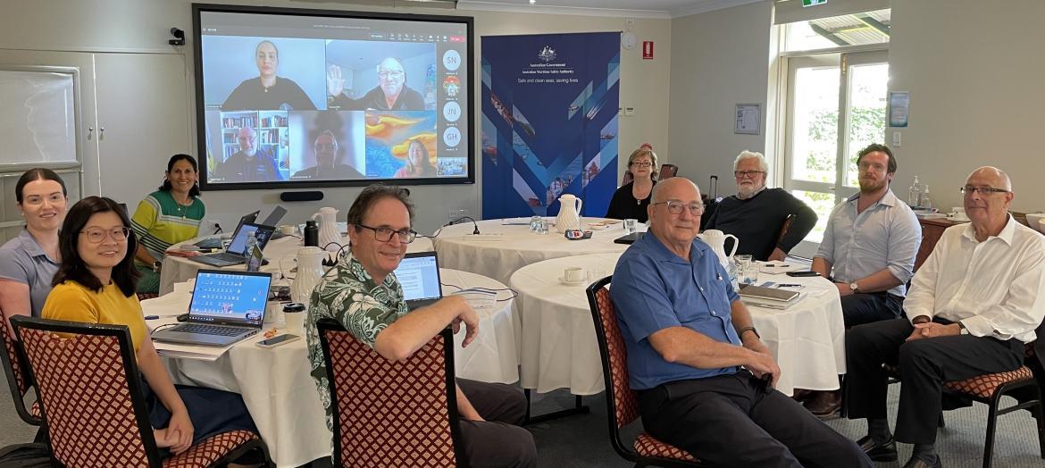
[[[909,321],[854,327],[845,340],[851,419],[866,418],[857,443],[875,461],[897,459],[896,441],[914,444],[907,467],[938,467],[933,444],[942,382],[1012,371],[1045,319],[1045,237],[1008,214],[1008,176],[973,171],[962,188],[972,223],[948,228],[904,301]],[[896,441],[885,414],[883,364],[900,365]]]

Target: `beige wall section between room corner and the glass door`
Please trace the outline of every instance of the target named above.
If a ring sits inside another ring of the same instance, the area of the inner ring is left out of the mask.
[[[719,177],[719,193],[736,191],[733,160],[740,151],[764,151],[769,67],[768,1],[676,18],[671,32],[671,162],[679,176],[706,193]],[[737,135],[737,103],[762,104],[761,135]]]

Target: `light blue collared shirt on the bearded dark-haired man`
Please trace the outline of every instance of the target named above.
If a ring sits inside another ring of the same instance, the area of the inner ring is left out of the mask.
[[[891,189],[862,213],[857,213],[859,200],[857,192],[831,211],[815,257],[830,262],[834,279],[845,283],[888,268],[900,280],[889,292],[902,297],[914,272],[922,225]]]

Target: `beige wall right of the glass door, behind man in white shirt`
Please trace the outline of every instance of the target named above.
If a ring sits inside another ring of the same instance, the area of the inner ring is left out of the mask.
[[[889,89],[910,91],[910,123],[895,148],[893,190],[913,176],[937,206],[981,165],[1013,179],[1017,211],[1045,210],[1045,2],[892,0]]]

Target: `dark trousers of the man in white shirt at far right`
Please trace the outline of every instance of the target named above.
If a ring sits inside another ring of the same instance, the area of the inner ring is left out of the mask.
[[[885,419],[888,382],[882,365],[900,365],[896,438],[932,444],[943,411],[943,382],[1019,368],[1023,344],[972,335],[905,342],[913,331],[910,322],[890,320],[854,327],[845,334],[845,405],[850,419]]]

